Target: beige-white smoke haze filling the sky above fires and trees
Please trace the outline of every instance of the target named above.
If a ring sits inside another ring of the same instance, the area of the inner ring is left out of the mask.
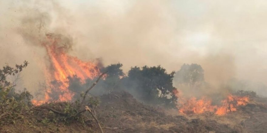
[[[198,63],[214,86],[231,78],[265,84],[263,0],[2,0],[0,20],[0,65],[29,61],[22,86],[32,92],[44,80],[40,42],[48,32],[69,37],[71,55],[120,62],[125,72],[144,65],[171,72]]]

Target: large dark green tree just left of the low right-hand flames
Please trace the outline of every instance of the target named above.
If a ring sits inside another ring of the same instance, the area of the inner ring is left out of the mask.
[[[161,66],[143,66],[142,69],[135,66],[129,70],[124,82],[128,83],[126,87],[136,90],[145,102],[170,104],[175,97],[172,94],[175,89],[172,83],[174,73],[167,73]]]

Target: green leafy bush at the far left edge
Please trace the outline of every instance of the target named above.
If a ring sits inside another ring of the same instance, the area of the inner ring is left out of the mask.
[[[14,86],[6,80],[7,76],[14,76],[28,65],[25,61],[22,65],[12,68],[8,65],[0,69],[0,124],[15,123],[29,113],[32,95],[24,89],[20,93],[14,91]]]

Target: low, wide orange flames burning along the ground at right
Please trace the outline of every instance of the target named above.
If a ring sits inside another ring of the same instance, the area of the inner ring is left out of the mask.
[[[249,98],[244,96],[233,96],[228,95],[227,99],[221,101],[221,105],[212,105],[212,100],[203,97],[201,99],[196,99],[192,97],[186,99],[184,97],[178,96],[179,92],[174,91],[175,96],[179,97],[179,103],[177,104],[177,109],[182,114],[200,114],[204,112],[214,112],[216,115],[225,115],[228,112],[237,111],[237,107],[240,105],[246,105],[249,102]]]

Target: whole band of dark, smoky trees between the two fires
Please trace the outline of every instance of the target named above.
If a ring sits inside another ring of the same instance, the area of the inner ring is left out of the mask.
[[[144,66],[142,69],[131,68],[126,76],[121,69],[122,66],[117,63],[103,68],[101,71],[108,71],[108,73],[105,79],[100,79],[91,93],[97,95],[115,89],[128,90],[144,102],[174,106],[176,101],[172,93],[175,89],[172,83],[174,72],[167,73],[166,69],[161,66]],[[95,79],[87,79],[86,83],[82,83],[77,76],[69,77],[69,89],[75,92],[74,97],[79,99],[94,81]]]

